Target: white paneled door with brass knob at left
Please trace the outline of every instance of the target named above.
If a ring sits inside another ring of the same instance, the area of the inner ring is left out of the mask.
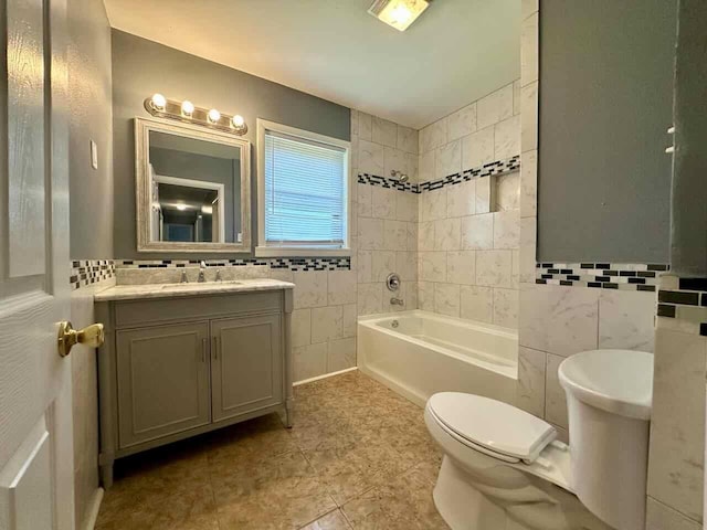
[[[65,11],[0,0],[1,530],[74,528]]]

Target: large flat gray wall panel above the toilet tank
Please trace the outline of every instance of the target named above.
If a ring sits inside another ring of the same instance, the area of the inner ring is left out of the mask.
[[[675,0],[544,0],[538,257],[667,263]]]

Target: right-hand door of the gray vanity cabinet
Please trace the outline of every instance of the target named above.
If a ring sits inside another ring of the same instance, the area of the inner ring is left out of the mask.
[[[279,315],[211,321],[213,421],[283,401]]]

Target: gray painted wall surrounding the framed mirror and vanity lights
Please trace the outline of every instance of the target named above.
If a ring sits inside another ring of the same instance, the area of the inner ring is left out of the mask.
[[[117,30],[113,30],[113,81],[115,211],[119,212],[114,229],[117,258],[188,256],[179,253],[138,254],[136,251],[133,118],[148,116],[143,107],[147,96],[159,92],[169,98],[189,99],[194,105],[215,107],[245,118],[249,126],[245,138],[253,144],[253,234],[257,233],[256,118],[335,138],[350,138],[350,110],[347,107]],[[204,253],[199,257],[210,255]]]

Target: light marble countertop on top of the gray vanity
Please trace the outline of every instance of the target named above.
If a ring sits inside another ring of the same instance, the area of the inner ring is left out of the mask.
[[[254,293],[260,290],[293,289],[295,284],[278,279],[239,279],[204,282],[201,284],[116,285],[94,295],[95,301],[136,300],[144,298],[181,298],[186,296]]]

